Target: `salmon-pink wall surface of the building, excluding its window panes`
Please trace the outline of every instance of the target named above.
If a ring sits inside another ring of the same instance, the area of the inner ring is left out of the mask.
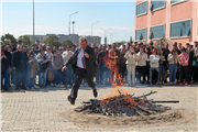
[[[140,4],[145,0],[136,0],[135,4]],[[165,24],[165,38],[168,38],[170,44],[174,42],[194,44],[194,41],[198,41],[198,1],[186,0],[184,2],[172,6],[170,0],[165,0],[165,8],[160,10],[150,11],[151,0],[147,0],[147,13],[144,15],[136,16],[135,9],[135,30],[147,28],[147,37],[145,42],[150,42],[150,28],[161,24]],[[177,37],[170,38],[170,23],[176,21],[184,21],[191,19],[190,37]]]

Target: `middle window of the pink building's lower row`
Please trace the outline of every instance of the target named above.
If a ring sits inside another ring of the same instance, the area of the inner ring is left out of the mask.
[[[164,29],[165,25],[157,25],[157,26],[153,26],[150,28],[150,35],[148,38],[163,38],[164,37]]]

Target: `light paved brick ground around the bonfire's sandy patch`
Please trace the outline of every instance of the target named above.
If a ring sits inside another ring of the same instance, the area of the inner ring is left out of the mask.
[[[110,88],[98,88],[99,96],[109,92]],[[179,100],[179,103],[168,105],[173,109],[185,109],[198,114],[198,85],[194,86],[164,86],[130,88],[136,95],[147,94],[151,89],[157,94],[150,96],[155,100]],[[79,90],[78,99],[75,106],[70,106],[67,96],[70,90],[64,88],[45,88],[25,92],[0,92],[0,131],[64,131],[64,132],[131,132],[131,131],[198,131],[197,120],[188,123],[175,124],[168,127],[144,128],[124,128],[124,129],[96,129],[84,128],[69,122],[62,117],[62,113],[80,105],[84,100],[92,97],[92,91],[88,87]],[[197,119],[197,118],[196,118]]]

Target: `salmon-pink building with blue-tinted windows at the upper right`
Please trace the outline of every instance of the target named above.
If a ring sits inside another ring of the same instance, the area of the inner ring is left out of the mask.
[[[135,41],[198,41],[198,0],[136,0]]]

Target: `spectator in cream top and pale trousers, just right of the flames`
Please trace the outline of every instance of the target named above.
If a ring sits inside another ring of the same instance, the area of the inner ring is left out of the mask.
[[[127,69],[128,69],[128,84],[129,86],[133,85],[135,86],[135,64],[136,64],[136,54],[132,46],[130,46],[130,51],[124,55],[127,58]],[[132,76],[132,78],[131,78]],[[132,80],[132,82],[131,82]]]

